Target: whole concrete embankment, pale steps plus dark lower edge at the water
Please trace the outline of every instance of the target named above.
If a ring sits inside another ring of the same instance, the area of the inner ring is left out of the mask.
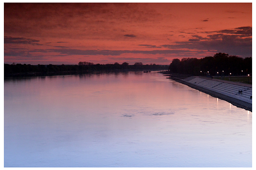
[[[231,104],[252,112],[252,85],[225,80],[215,80],[208,77],[191,76],[188,78],[170,77],[212,97],[223,99]],[[241,89],[242,94],[239,92]]]

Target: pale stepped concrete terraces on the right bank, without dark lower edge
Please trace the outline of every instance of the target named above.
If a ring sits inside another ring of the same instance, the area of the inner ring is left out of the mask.
[[[247,103],[252,104],[252,86],[243,83],[225,82],[222,80],[214,80],[200,77],[189,77],[183,81],[198,86],[212,92],[216,92],[227,97],[232,97]],[[239,85],[237,85],[239,84]],[[240,94],[239,91],[242,91]]]

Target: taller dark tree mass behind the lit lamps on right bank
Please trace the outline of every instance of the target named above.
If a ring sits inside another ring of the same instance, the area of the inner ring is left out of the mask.
[[[225,53],[216,53],[213,57],[173,59],[169,70],[171,73],[192,75],[247,75],[252,74],[252,57],[241,58]],[[231,73],[231,74],[230,74]]]

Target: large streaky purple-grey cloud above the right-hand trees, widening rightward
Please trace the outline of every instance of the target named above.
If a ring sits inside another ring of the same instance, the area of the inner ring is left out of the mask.
[[[223,51],[231,55],[238,55],[243,58],[252,57],[252,27],[238,27],[213,31],[217,34],[210,34],[203,38],[193,35],[196,39],[176,42],[171,45],[161,45],[168,49],[190,49],[190,50],[215,50]]]

